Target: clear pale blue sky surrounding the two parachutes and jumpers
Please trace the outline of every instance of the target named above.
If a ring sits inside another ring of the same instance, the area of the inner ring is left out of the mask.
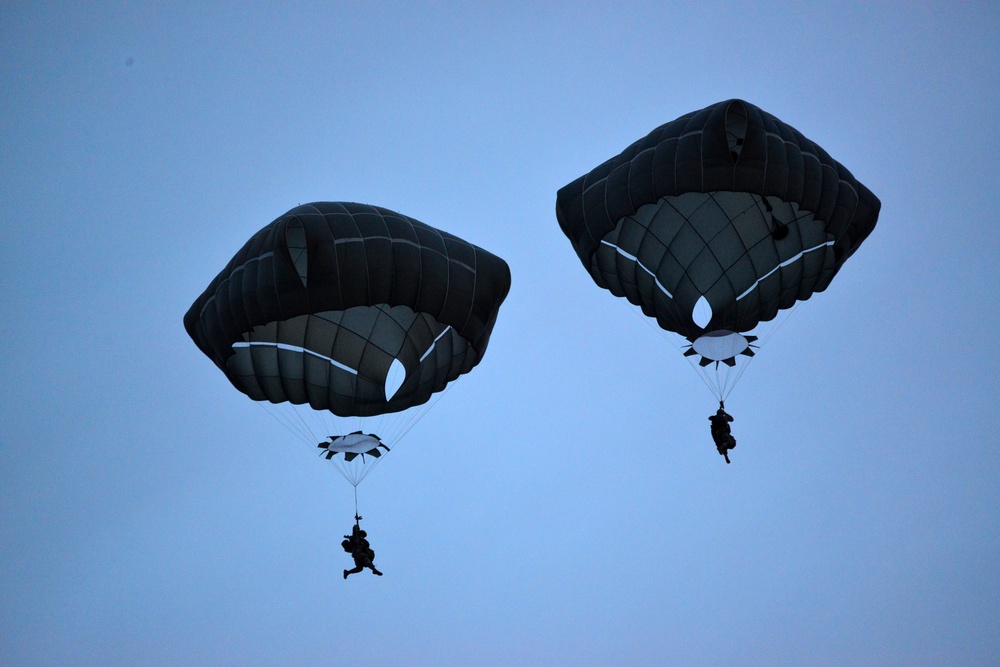
[[[994,3],[5,3],[0,662],[1000,660]],[[716,405],[562,185],[740,97],[882,200]],[[504,257],[484,361],[353,490],[183,313],[358,201]]]

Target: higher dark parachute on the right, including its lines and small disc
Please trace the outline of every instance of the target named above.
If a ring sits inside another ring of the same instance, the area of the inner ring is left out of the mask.
[[[561,188],[556,217],[598,286],[718,372],[749,361],[761,323],[829,286],[880,207],[798,130],[733,99]],[[706,382],[721,402],[735,381]]]

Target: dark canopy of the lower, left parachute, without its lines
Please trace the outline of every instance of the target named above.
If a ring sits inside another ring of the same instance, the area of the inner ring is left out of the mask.
[[[393,211],[298,206],[246,242],[184,316],[256,401],[341,417],[427,402],[479,363],[506,262]]]

